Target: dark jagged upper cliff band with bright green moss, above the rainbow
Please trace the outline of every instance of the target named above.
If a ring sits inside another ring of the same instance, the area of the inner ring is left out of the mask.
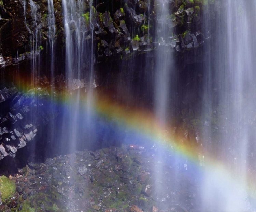
[[[3,0],[0,4],[0,68],[31,59],[33,54],[30,52],[32,45],[30,39],[34,33],[38,33],[42,47],[47,45],[47,1],[38,0],[34,3],[36,8],[34,13],[31,12],[31,5],[23,0]],[[54,0],[53,3],[56,22],[54,43],[62,49],[65,46],[62,2]],[[87,26],[85,39],[91,39],[89,20],[91,17],[96,63],[110,58],[130,58],[134,52],[137,54],[158,48],[161,42],[155,40],[155,37],[162,24],[167,24],[170,29],[167,45],[174,51],[183,54],[188,49],[198,48],[203,45],[206,37],[200,17],[204,12],[208,13],[208,10],[211,13],[215,12],[214,7],[205,6],[200,1],[195,3],[181,0],[166,1],[164,4],[171,8],[171,14],[163,18],[159,11],[162,2],[159,0],[128,1],[128,4],[114,1],[110,4],[109,8],[113,9],[108,10],[104,2],[99,2],[95,7],[90,7],[88,2],[84,2],[85,13],[81,19]],[[90,15],[90,12],[94,14]],[[47,54],[47,51],[40,52],[40,49],[37,51],[38,54]]]

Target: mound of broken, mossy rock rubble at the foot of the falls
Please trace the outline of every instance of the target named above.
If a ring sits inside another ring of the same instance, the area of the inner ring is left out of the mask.
[[[196,179],[170,152],[161,157],[150,146],[122,145],[30,162],[11,177],[16,193],[0,211],[192,211]]]

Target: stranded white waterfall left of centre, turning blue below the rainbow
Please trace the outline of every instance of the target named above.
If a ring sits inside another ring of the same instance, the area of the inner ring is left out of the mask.
[[[66,37],[66,79],[68,84],[75,85],[70,97],[72,105],[67,106],[62,123],[62,140],[68,143],[69,150],[74,151],[79,141],[90,140],[92,117],[93,84],[93,24],[94,7],[86,13],[82,1],[62,0],[64,29]],[[88,20],[89,19],[89,20]],[[84,82],[86,85],[84,85]],[[87,93],[85,93],[85,92]],[[81,101],[87,95],[86,103]],[[89,108],[84,110],[84,108]],[[87,112],[84,112],[87,111]],[[80,135],[80,131],[86,134]],[[63,145],[63,144],[62,144]],[[65,148],[65,147],[63,147]]]

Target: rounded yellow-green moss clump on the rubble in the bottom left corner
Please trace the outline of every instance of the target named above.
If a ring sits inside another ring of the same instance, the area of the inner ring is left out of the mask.
[[[2,200],[7,199],[9,196],[16,192],[15,182],[2,175],[0,177],[0,191],[2,193]]]

